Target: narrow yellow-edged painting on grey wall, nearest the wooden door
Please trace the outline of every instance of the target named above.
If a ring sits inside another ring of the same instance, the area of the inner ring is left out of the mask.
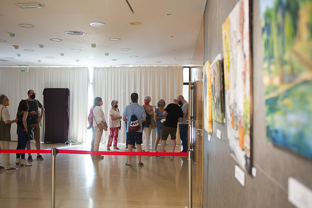
[[[204,65],[204,130],[212,133],[210,61]]]

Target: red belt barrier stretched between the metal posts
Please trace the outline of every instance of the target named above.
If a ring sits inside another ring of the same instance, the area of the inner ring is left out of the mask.
[[[132,155],[132,156],[188,156],[187,152],[108,152],[108,151],[82,151],[57,149],[64,154],[90,154],[90,155]],[[24,150],[24,149],[0,149],[0,153],[49,153],[51,150]]]

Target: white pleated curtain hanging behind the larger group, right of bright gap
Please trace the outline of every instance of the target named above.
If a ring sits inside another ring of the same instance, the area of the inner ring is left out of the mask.
[[[94,97],[101,97],[103,100],[102,110],[107,123],[111,100],[118,100],[118,108],[122,115],[124,108],[129,105],[131,93],[139,94],[140,105],[144,104],[145,95],[151,96],[151,105],[155,106],[161,98],[168,105],[182,94],[182,85],[182,66],[94,67],[92,84]],[[109,132],[108,130],[103,133],[102,143],[107,143]],[[123,121],[118,143],[126,143]]]

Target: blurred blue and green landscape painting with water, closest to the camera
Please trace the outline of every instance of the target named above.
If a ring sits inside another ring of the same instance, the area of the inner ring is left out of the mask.
[[[312,158],[312,1],[260,0],[266,136]]]

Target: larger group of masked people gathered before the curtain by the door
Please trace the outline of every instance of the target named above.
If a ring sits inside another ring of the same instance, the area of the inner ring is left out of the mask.
[[[126,127],[126,148],[128,152],[132,152],[132,149],[137,145],[138,152],[149,152],[149,140],[152,131],[152,126],[155,126],[153,122],[156,120],[156,134],[157,139],[155,141],[154,152],[157,151],[159,142],[161,141],[161,152],[165,151],[166,140],[170,134],[172,140],[172,152],[176,147],[176,133],[179,122],[179,134],[182,141],[182,152],[188,151],[188,102],[182,95],[179,95],[177,99],[173,99],[171,104],[166,107],[164,99],[159,99],[157,102],[157,108],[154,110],[150,105],[151,97],[146,95],[144,97],[144,105],[138,104],[139,96],[137,93],[130,95],[130,104],[124,108],[122,116],[118,109],[118,101],[112,100],[109,110],[109,128],[110,135],[107,143],[107,150],[110,151],[113,139],[114,149],[117,147],[118,132],[121,128],[121,119],[125,122]],[[96,97],[90,113],[88,116],[89,126],[88,129],[92,131],[91,151],[98,151],[100,140],[103,134],[103,130],[107,131],[108,125],[105,120],[105,114],[100,108],[103,105],[102,98]],[[144,133],[144,139],[143,139]],[[141,146],[143,144],[143,147]],[[156,156],[163,157],[163,156]],[[173,156],[170,156],[173,158]],[[94,155],[94,159],[103,159],[102,155]],[[131,156],[128,156],[128,162],[124,164],[126,167],[132,167]],[[142,167],[144,164],[141,162],[141,156],[139,156],[138,166]]]

